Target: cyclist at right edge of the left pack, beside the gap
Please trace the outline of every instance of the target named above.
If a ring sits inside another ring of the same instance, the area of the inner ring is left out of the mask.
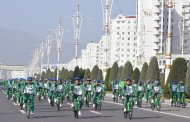
[[[102,99],[103,87],[102,81],[96,80],[96,84],[94,84],[94,96],[93,96],[93,108],[95,107],[96,98]]]

